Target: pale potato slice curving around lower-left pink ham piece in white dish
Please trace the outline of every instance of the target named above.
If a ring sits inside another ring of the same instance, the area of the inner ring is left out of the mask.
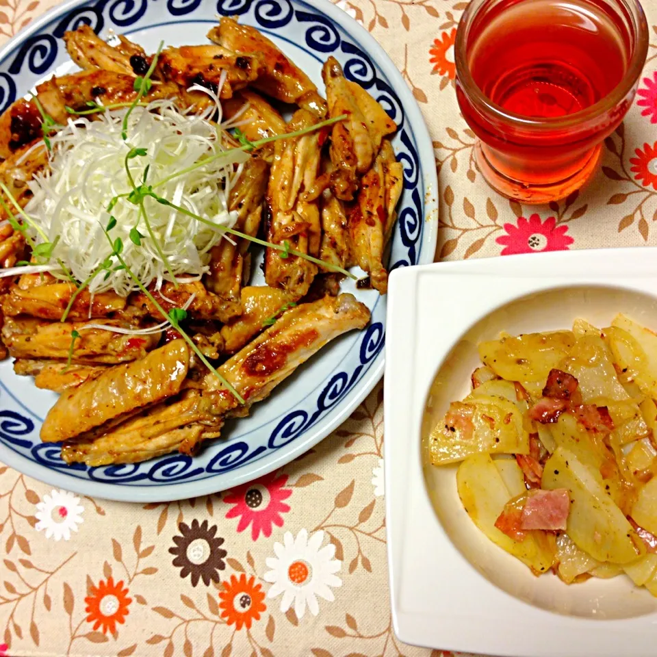
[[[489,454],[474,454],[465,459],[456,472],[456,486],[467,515],[495,545],[519,558],[535,574],[552,566],[556,553],[554,536],[533,531],[527,532],[524,540],[514,541],[495,527],[504,504],[513,495]]]

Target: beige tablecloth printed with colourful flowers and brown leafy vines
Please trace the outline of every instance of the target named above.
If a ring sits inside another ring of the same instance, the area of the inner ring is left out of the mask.
[[[53,4],[0,0],[0,40]],[[652,43],[639,94],[600,174],[541,207],[509,203],[476,170],[454,98],[466,3],[338,4],[383,44],[424,112],[440,180],[437,258],[657,244],[657,0],[644,3]],[[443,655],[391,628],[382,402],[379,385],[281,471],[185,502],[79,498],[0,466],[0,656]]]

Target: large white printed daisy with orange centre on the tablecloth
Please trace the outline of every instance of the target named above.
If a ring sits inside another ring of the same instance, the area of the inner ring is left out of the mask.
[[[310,539],[308,532],[302,529],[296,539],[290,532],[285,532],[283,543],[274,543],[276,557],[268,557],[266,563],[271,568],[264,579],[274,585],[267,597],[276,597],[283,593],[281,611],[285,613],[292,602],[297,618],[301,618],[308,605],[313,616],[318,615],[320,606],[317,597],[333,602],[335,596],[329,587],[342,587],[342,580],[335,575],[342,567],[337,561],[335,545],[329,543],[320,550],[324,541],[324,532],[315,532]]]

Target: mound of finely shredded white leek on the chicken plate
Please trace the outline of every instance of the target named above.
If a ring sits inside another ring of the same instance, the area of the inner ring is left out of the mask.
[[[121,138],[127,108],[107,110],[94,120],[86,116],[71,118],[64,129],[51,137],[50,170],[28,183],[34,196],[25,211],[35,224],[27,227],[27,233],[36,244],[45,241],[40,233],[47,235],[50,242],[60,238],[51,257],[53,268],[48,269],[53,276],[66,278],[54,266],[61,261],[75,279],[86,281],[112,253],[101,227],[110,220],[107,206],[112,198],[132,191],[125,170],[125,157],[132,147],[147,152],[128,161],[137,185],[166,180],[205,157],[227,150],[221,144],[221,130],[209,120],[220,109],[218,98],[210,95],[215,105],[201,114],[181,112],[175,103],[164,99],[146,107],[134,107],[128,119],[129,144]],[[248,157],[248,153],[233,149],[207,166],[173,177],[160,185],[157,192],[218,226],[233,227],[237,214],[228,209],[229,192],[241,172],[240,165]],[[144,181],[146,165],[149,171]],[[224,239],[220,231],[161,205],[154,198],[144,199],[144,209],[157,244],[140,218],[138,205],[124,196],[112,209],[116,218],[112,239],[122,240],[127,266],[144,286],[155,283],[156,289],[164,281],[172,280],[167,265],[176,278],[186,274],[181,281],[199,280],[207,271],[209,251]],[[133,228],[145,236],[140,246],[130,240]],[[113,289],[127,296],[138,289],[126,270],[114,271],[118,261],[112,262],[109,276],[101,270],[90,281],[90,292]]]

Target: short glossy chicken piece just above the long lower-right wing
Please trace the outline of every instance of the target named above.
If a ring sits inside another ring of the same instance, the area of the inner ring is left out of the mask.
[[[291,301],[291,296],[276,287],[242,287],[242,315],[221,328],[224,352],[239,351],[254,335],[267,328],[263,322],[273,318]]]

